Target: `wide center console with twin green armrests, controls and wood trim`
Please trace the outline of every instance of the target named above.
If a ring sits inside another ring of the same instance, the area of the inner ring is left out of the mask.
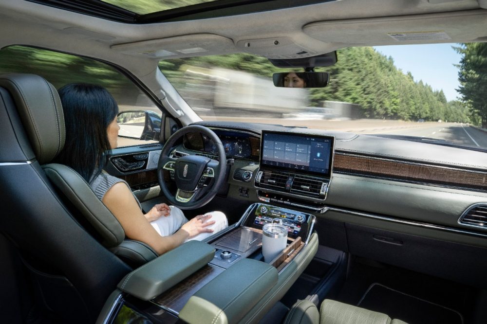
[[[262,227],[267,223],[284,225],[288,236],[284,251],[265,263]],[[215,305],[223,309],[228,306],[226,298],[238,295],[239,302],[225,309],[225,316],[232,322],[245,318],[253,323],[282,298],[311,262],[318,250],[314,223],[311,214],[254,203],[237,224],[206,243],[189,241],[129,273],[99,320],[114,323],[130,314],[144,323],[178,323],[180,319],[206,323],[202,316],[211,319],[216,315],[212,313]],[[260,288],[246,289],[247,285]]]

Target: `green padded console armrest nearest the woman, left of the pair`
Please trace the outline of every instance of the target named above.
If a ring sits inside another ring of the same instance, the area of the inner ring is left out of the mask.
[[[213,259],[215,249],[188,241],[127,274],[118,288],[142,300],[151,300]]]

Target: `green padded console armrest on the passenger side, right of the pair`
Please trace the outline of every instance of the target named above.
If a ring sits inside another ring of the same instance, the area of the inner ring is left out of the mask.
[[[179,312],[189,324],[237,323],[276,285],[273,266],[243,259],[198,290]]]

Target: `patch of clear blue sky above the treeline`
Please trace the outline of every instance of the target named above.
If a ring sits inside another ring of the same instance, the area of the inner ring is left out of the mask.
[[[386,56],[392,56],[394,65],[404,73],[410,71],[414,81],[423,80],[434,90],[442,89],[447,100],[456,99],[459,94],[458,64],[462,55],[451,46],[458,44],[427,44],[375,46],[375,50]]]

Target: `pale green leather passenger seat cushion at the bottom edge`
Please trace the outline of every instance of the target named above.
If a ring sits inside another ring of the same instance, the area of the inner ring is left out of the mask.
[[[391,320],[383,313],[374,312],[331,299],[325,299],[318,307],[309,300],[300,300],[288,311],[284,324],[407,324]]]

